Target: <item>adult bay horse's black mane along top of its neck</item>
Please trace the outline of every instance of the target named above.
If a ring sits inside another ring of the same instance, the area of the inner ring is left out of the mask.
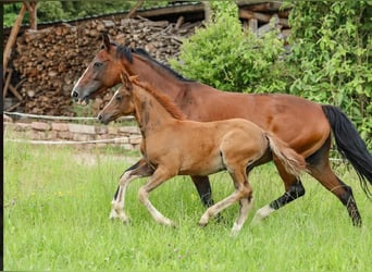
[[[121,58],[125,58],[127,59],[131,63],[133,63],[133,53],[139,54],[141,57],[144,57],[145,59],[147,59],[148,61],[150,61],[151,63],[153,63],[157,66],[160,66],[164,70],[166,70],[168,72],[170,72],[173,76],[175,76],[177,79],[183,81],[183,82],[194,82],[191,79],[187,79],[185,77],[183,77],[181,74],[178,74],[177,72],[175,72],[174,70],[172,70],[170,66],[159,62],[158,60],[153,59],[145,49],[142,48],[128,48],[125,46],[116,46],[116,58],[121,59]]]

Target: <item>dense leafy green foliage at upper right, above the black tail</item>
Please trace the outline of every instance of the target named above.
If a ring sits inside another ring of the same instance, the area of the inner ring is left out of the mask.
[[[290,94],[330,103],[372,147],[372,1],[296,1]]]

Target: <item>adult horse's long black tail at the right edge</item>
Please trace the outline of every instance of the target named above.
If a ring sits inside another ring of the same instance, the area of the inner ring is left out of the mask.
[[[330,122],[338,151],[352,164],[364,193],[371,197],[367,181],[372,185],[372,154],[368,151],[365,143],[351,121],[338,108],[323,104],[322,109]]]

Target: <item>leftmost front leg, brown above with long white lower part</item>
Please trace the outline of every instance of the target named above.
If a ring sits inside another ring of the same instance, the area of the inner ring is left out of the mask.
[[[152,173],[153,170],[146,163],[144,158],[124,171],[120,178],[115,196],[111,202],[110,219],[120,218],[123,222],[128,221],[128,217],[124,212],[126,188],[133,180],[150,176]]]

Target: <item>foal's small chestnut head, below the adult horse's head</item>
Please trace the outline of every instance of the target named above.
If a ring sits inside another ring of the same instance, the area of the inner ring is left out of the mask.
[[[137,76],[128,77],[125,73],[121,75],[123,86],[116,90],[110,102],[98,114],[101,123],[108,124],[120,116],[132,115],[135,113],[133,103],[133,83]]]

